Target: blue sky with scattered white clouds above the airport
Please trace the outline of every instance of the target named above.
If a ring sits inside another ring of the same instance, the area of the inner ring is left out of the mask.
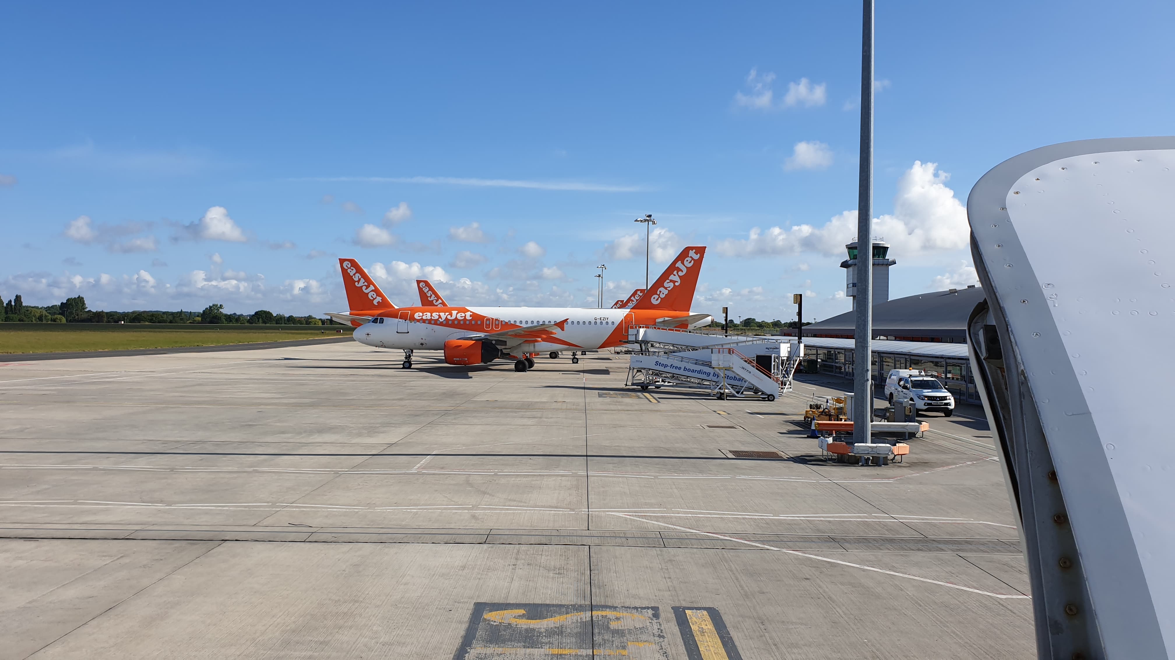
[[[1173,22],[879,4],[891,296],[974,281],[961,204],[999,162],[1170,134]],[[0,295],[321,314],[347,256],[396,304],[427,276],[455,304],[593,307],[600,263],[606,304],[643,283],[649,213],[663,260],[710,247],[694,311],[790,318],[804,291],[825,318],[850,309],[859,23],[855,2],[12,5]]]

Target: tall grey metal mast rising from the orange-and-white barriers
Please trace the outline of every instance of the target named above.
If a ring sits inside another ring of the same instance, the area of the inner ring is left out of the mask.
[[[853,332],[853,443],[873,422],[873,0],[861,0],[861,168],[857,202],[857,328]]]

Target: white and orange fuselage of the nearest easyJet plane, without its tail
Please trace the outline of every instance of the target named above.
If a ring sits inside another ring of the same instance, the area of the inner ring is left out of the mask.
[[[441,350],[449,339],[476,338],[513,328],[568,319],[555,330],[555,342],[528,343],[529,352],[599,349],[616,345],[620,330],[636,323],[631,310],[583,308],[410,308],[385,312],[355,329],[355,339],[369,346],[404,350]],[[407,318],[402,318],[407,316]],[[445,318],[439,318],[444,316]]]

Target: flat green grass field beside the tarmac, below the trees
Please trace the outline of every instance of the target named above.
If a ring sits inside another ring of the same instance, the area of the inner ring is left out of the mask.
[[[336,332],[342,330],[342,334]],[[2,323],[0,353],[113,351],[296,342],[351,334],[340,325],[149,325]]]

